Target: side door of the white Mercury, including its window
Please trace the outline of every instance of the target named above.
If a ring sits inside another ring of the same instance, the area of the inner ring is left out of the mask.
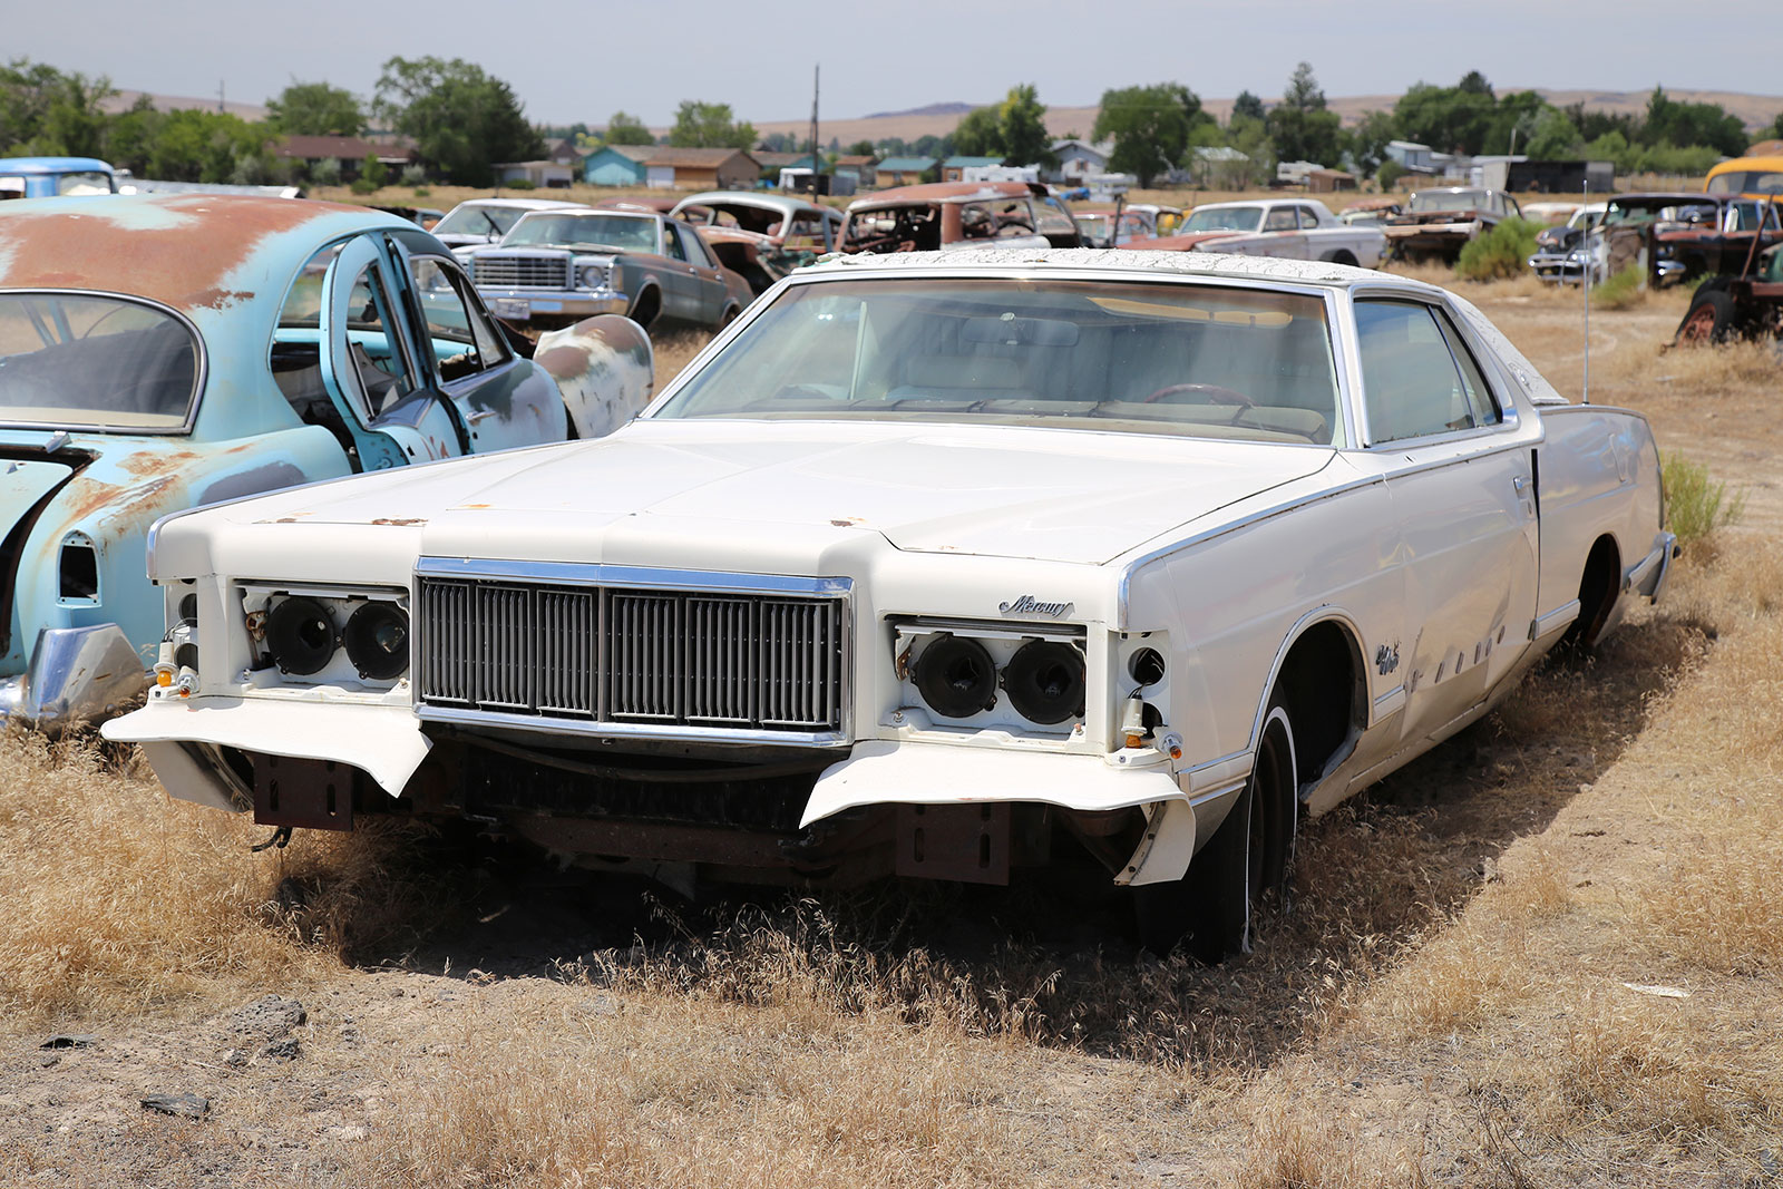
[[[1366,465],[1385,480],[1405,572],[1405,740],[1475,708],[1530,647],[1539,524],[1533,451],[1448,310],[1355,301]]]

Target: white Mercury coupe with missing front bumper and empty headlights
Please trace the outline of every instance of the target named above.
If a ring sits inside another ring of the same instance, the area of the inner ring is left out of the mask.
[[[849,257],[608,439],[162,521],[164,685],[105,734],[273,827],[471,816],[683,884],[1080,847],[1218,957],[1302,813],[1658,595],[1658,474],[1405,278]]]

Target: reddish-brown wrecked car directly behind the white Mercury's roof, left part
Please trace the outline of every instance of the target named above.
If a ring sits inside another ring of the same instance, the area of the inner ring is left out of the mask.
[[[1072,212],[1038,182],[925,182],[849,203],[838,251],[1079,246]]]

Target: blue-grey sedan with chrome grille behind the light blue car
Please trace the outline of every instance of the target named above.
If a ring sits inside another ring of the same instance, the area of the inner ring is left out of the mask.
[[[596,314],[724,326],[754,296],[694,226],[635,209],[538,210],[499,244],[460,248],[496,317],[533,330]]]

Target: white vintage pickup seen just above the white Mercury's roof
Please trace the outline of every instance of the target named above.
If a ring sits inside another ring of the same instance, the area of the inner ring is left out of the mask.
[[[1371,269],[1387,251],[1387,235],[1378,226],[1339,221],[1316,198],[1289,198],[1205,203],[1182,221],[1175,235],[1134,239],[1122,248],[1330,260]]]

